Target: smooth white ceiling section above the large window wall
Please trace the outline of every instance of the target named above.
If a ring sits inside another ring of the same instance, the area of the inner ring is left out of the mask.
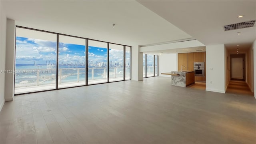
[[[129,46],[192,38],[133,0],[0,2],[16,25],[50,32]]]

